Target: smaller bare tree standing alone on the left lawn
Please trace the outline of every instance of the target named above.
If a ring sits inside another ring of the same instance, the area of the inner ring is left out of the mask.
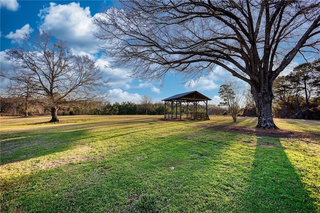
[[[5,53],[14,64],[13,70],[6,73],[12,81],[10,91],[22,92],[26,98],[37,97],[51,111],[50,122],[59,121],[59,107],[92,100],[100,95],[101,86],[107,86],[93,59],[72,54],[63,41],[55,40],[50,33],[25,35],[20,47]]]

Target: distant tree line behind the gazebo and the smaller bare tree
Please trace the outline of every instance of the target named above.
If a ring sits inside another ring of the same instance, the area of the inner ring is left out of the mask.
[[[143,99],[143,98],[142,98]],[[0,101],[0,115],[1,116],[36,116],[48,115],[50,109],[45,108],[41,102],[35,99],[30,99],[28,106],[25,107],[25,99],[17,96],[1,97]],[[27,110],[27,111],[26,111]],[[170,105],[166,106],[166,112],[171,112]],[[185,105],[182,105],[182,113],[186,113]],[[205,106],[198,104],[197,112],[205,112]],[[175,113],[175,107],[173,108]],[[208,104],[208,114],[222,115],[227,113],[227,108],[217,106],[215,104]],[[147,102],[142,100],[139,103],[130,101],[123,101],[121,103],[109,101],[95,101],[88,100],[77,102],[77,104],[60,107],[58,115],[125,115],[125,114],[150,114],[158,115],[164,114],[163,102]]]

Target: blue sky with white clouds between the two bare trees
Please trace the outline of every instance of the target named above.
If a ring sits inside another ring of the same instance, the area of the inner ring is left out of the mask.
[[[0,67],[10,67],[4,60],[4,50],[15,47],[21,42],[24,33],[31,36],[39,29],[50,31],[56,38],[67,42],[76,54],[89,54],[100,66],[103,75],[109,79],[109,101],[111,103],[131,101],[138,103],[142,95],[152,97],[153,102],[160,101],[177,93],[197,90],[218,104],[219,86],[231,74],[221,67],[214,67],[209,75],[195,81],[182,79],[176,73],[165,76],[161,85],[159,81],[144,81],[128,76],[129,69],[121,67],[105,68],[108,59],[98,50],[99,41],[93,37],[96,30],[91,19],[98,12],[106,10],[116,1],[111,0],[0,0],[1,2],[1,42]],[[292,67],[292,66],[291,66]],[[4,82],[2,82],[1,88]]]

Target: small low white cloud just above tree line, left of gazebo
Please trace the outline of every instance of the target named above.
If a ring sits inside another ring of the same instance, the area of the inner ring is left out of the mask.
[[[138,93],[129,93],[119,88],[114,88],[109,90],[108,99],[111,103],[121,103],[126,101],[138,103],[141,99],[141,95]]]

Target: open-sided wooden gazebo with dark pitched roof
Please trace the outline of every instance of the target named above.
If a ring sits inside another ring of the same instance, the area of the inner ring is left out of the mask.
[[[211,100],[207,96],[201,94],[198,91],[189,91],[181,94],[176,94],[171,97],[167,97],[163,99],[164,101],[164,119],[179,119],[181,120],[181,105],[182,103],[186,104],[186,118],[187,119],[200,119],[200,120],[209,120],[209,116],[207,114],[208,111],[208,100]],[[205,112],[196,112],[197,104],[203,101],[205,103]],[[171,112],[166,112],[165,108],[167,103],[171,103]],[[173,104],[175,103],[175,113],[173,113]],[[189,104],[193,104],[193,111],[188,113],[188,106]],[[178,106],[179,106],[179,113],[178,113]]]

